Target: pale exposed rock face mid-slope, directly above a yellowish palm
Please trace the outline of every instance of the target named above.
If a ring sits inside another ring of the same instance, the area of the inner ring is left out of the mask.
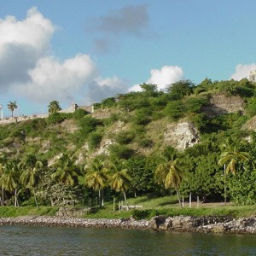
[[[167,131],[165,132],[165,143],[178,150],[191,147],[198,143],[199,134],[190,122],[172,123],[167,125]]]

